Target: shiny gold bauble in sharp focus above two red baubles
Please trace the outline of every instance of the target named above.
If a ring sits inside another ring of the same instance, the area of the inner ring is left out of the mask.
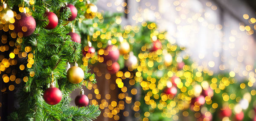
[[[77,63],[67,70],[67,80],[73,84],[78,84],[84,80],[84,71],[77,65]]]

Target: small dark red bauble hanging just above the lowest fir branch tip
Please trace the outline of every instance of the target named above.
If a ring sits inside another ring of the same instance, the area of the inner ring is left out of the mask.
[[[75,98],[75,104],[78,107],[86,107],[89,104],[89,99],[84,95],[84,89],[81,89],[80,95]]]

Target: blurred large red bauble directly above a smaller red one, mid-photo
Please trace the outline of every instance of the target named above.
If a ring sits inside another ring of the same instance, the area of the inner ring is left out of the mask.
[[[104,50],[104,54],[102,55],[102,57],[104,58],[104,62],[106,63],[108,60],[111,60],[112,63],[116,62],[119,58],[119,50],[117,49],[116,46],[111,45],[108,46],[105,50]]]

